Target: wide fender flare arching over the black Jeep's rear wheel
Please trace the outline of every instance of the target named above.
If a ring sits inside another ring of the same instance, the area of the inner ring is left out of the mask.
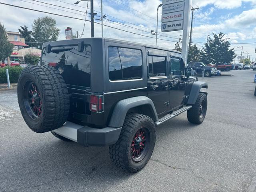
[[[152,100],[146,96],[138,96],[118,101],[114,107],[108,126],[122,127],[128,110],[145,105],[147,105],[147,107],[151,110],[150,113],[152,114],[151,118],[153,121],[158,121],[158,116]]]

